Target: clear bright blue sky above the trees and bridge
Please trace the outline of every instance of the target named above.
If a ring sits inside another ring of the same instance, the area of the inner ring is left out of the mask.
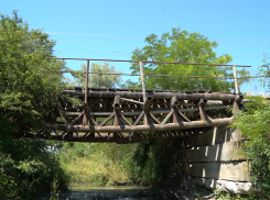
[[[216,41],[217,56],[229,54],[230,64],[251,66],[251,73],[262,65],[262,52],[270,55],[269,8],[269,0],[0,0],[0,13],[18,10],[30,29],[50,34],[57,57],[130,59],[145,36],[181,27]],[[129,63],[109,64],[130,73]]]

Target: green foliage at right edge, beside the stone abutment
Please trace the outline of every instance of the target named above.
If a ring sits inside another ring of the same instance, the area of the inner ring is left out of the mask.
[[[266,56],[266,54],[264,54]],[[263,59],[259,67],[261,76],[269,76],[268,63]],[[269,77],[261,78],[269,89]],[[239,129],[249,140],[240,152],[251,159],[250,181],[260,199],[270,198],[270,103],[269,99],[245,97],[245,110],[237,112],[234,127]]]

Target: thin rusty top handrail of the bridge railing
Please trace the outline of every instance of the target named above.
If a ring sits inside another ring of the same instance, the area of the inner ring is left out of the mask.
[[[201,64],[201,63],[181,63],[181,62],[154,62],[154,60],[129,60],[129,59],[94,59],[94,58],[69,58],[69,57],[47,57],[48,59],[75,59],[75,60],[95,60],[95,62],[127,62],[127,63],[156,63],[156,64],[182,64],[182,65],[203,65],[203,66],[233,66],[226,64]],[[251,67],[246,65],[235,65],[236,67]]]

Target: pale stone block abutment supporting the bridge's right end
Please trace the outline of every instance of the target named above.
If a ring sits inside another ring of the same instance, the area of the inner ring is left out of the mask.
[[[248,142],[239,130],[226,125],[187,137],[188,176],[198,185],[248,195],[250,162],[237,153]]]

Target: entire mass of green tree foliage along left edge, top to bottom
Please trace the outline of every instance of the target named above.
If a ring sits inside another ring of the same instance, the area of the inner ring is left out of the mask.
[[[55,177],[66,187],[46,142],[11,137],[48,131],[43,121],[66,87],[61,74],[46,73],[65,69],[63,62],[47,59],[54,44],[41,30],[29,30],[15,11],[12,18],[0,14],[0,199],[31,199],[50,190]]]

